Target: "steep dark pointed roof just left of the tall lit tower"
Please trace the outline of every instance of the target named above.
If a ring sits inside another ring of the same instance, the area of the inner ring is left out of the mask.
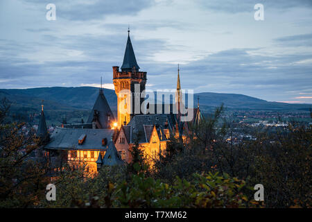
[[[87,120],[88,123],[96,122],[96,128],[110,128],[110,122],[108,122],[108,117],[110,116],[110,122],[114,121],[114,115],[112,110],[110,110],[110,105],[108,105],[107,100],[103,94],[103,89],[100,89],[98,93],[98,98],[94,103],[92,112]]]

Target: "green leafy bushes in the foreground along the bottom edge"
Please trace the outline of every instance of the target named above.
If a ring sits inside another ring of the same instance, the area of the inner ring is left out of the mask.
[[[139,169],[139,164],[135,164],[135,168]],[[88,182],[79,182],[77,178],[72,178],[75,180],[76,187],[58,189],[57,200],[53,202],[44,200],[42,207],[254,207],[257,205],[254,201],[248,201],[243,194],[243,191],[249,189],[245,181],[231,178],[226,173],[223,176],[219,176],[218,173],[202,175],[195,173],[191,181],[177,177],[173,185],[146,177],[143,172],[133,174],[128,181],[121,180],[122,178],[115,182],[105,180],[105,186],[98,182],[98,180],[104,181],[101,176]],[[78,193],[71,195],[72,193],[67,189],[76,190]],[[93,192],[95,190],[96,193]]]

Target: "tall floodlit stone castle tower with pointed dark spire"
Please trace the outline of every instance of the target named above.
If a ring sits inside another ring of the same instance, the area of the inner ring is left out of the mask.
[[[145,97],[141,93],[145,90],[146,71],[139,71],[140,67],[137,65],[129,34],[128,30],[121,71],[119,71],[119,67],[113,67],[113,83],[118,105],[118,128],[128,124],[135,114],[141,114],[141,103]]]

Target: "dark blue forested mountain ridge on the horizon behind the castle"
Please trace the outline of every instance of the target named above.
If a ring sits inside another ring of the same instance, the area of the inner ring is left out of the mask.
[[[117,98],[114,90],[104,89],[105,97],[112,110],[116,111]],[[30,89],[0,89],[0,98],[6,96],[13,102],[12,108],[40,109],[44,100],[45,110],[91,110],[96,96],[97,87],[40,87]],[[200,98],[200,108],[211,110],[220,106],[234,110],[309,110],[311,104],[289,104],[269,102],[243,94],[223,94],[202,92],[194,94],[194,106]]]

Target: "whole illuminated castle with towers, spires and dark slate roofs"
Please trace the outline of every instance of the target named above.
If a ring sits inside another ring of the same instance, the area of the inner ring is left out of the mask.
[[[114,117],[103,89],[100,88],[87,123],[63,123],[62,126],[55,128],[50,136],[46,130],[42,106],[37,137],[42,139],[49,137],[49,142],[44,146],[46,155],[53,157],[62,153],[68,164],[75,166],[83,163],[87,172],[96,173],[102,166],[131,162],[130,151],[135,143],[143,149],[146,157],[159,155],[166,148],[169,137],[185,139],[189,133],[189,123],[199,123],[202,119],[198,104],[197,108],[188,108],[188,112],[193,112],[191,121],[181,121],[182,93],[179,67],[175,104],[160,104],[162,112],[159,113],[157,110],[156,114],[154,112],[156,108],[150,113],[144,113],[144,110],[137,108],[141,108],[144,103],[147,78],[146,71],[139,71],[130,31],[121,70],[117,66],[112,69],[118,100],[117,117]],[[147,106],[152,107],[155,104]],[[176,113],[173,112],[174,108],[177,110]],[[167,112],[164,112],[165,110]],[[55,170],[60,168],[62,166],[54,167]]]

